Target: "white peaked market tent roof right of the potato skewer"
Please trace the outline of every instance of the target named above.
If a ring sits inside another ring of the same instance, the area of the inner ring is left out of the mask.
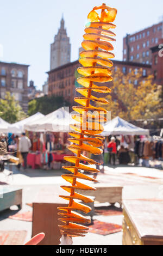
[[[149,135],[149,130],[142,129],[116,117],[104,125],[103,136],[109,135]]]

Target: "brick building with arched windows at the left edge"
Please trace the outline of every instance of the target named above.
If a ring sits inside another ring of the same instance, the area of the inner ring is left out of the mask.
[[[10,92],[20,103],[24,112],[28,111],[28,67],[29,65],[0,62],[0,95]]]

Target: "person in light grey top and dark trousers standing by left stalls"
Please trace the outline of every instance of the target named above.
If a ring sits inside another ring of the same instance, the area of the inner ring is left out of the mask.
[[[19,150],[24,160],[24,169],[27,168],[27,155],[31,146],[30,139],[26,136],[26,133],[23,132],[19,142]]]

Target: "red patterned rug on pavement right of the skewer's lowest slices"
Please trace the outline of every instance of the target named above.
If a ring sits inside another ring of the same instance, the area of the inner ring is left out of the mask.
[[[99,235],[109,235],[122,231],[122,226],[114,223],[106,223],[102,221],[93,221],[92,225],[89,225],[89,232]]]

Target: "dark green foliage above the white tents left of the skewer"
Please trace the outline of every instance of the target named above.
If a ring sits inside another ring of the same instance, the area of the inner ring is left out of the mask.
[[[33,115],[37,112],[49,114],[62,106],[70,106],[70,103],[64,100],[62,96],[43,96],[29,102],[28,114]]]

